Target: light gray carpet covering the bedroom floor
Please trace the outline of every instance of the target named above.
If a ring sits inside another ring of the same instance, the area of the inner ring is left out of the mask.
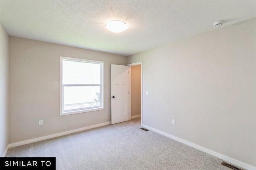
[[[6,157],[56,157],[56,170],[230,170],[215,156],[140,128],[139,117],[13,147]]]

